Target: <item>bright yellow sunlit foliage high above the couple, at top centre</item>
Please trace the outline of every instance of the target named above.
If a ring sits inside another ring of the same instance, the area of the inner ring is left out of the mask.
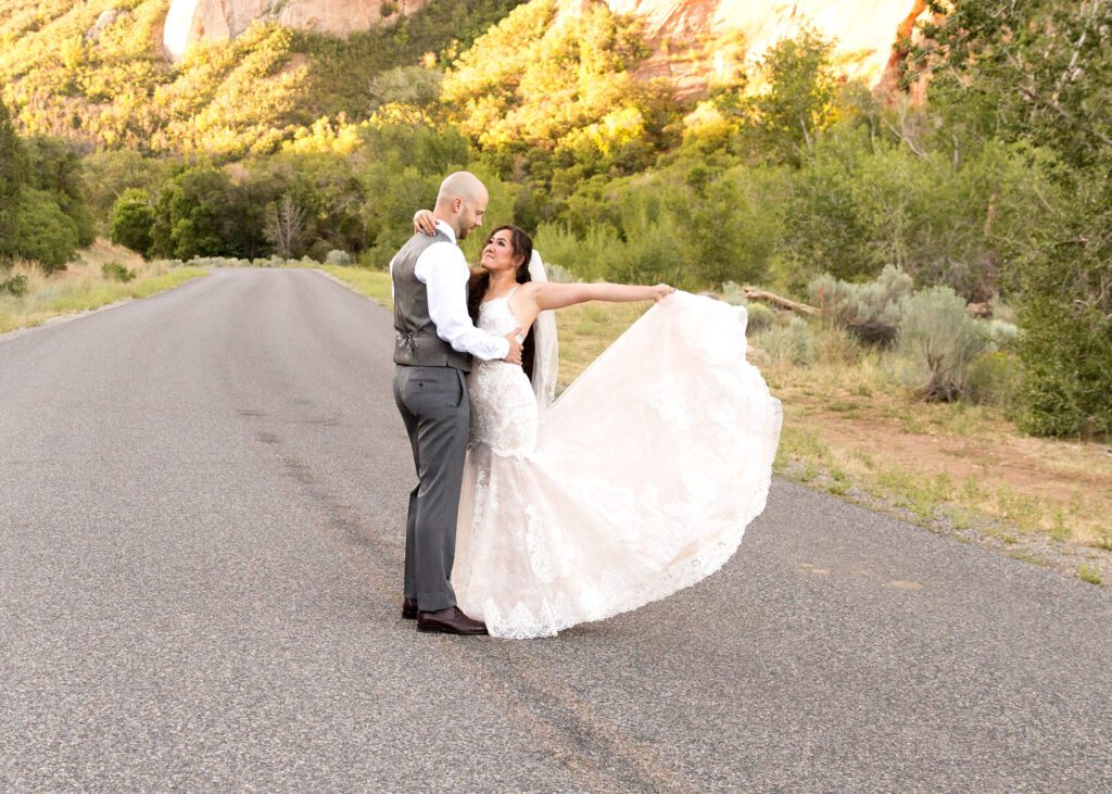
[[[572,16],[535,0],[460,56],[443,99],[484,148],[554,148],[573,131],[605,147],[642,131],[631,70],[644,53],[634,23],[605,3]]]

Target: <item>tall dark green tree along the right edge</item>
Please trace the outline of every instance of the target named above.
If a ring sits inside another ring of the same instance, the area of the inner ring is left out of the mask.
[[[911,73],[932,73],[962,146],[1022,141],[1064,197],[1042,190],[1036,234],[1011,247],[1020,298],[1022,421],[1050,435],[1112,434],[1112,6],[1101,0],[954,0],[924,30]],[[959,123],[957,120],[961,120]],[[1032,190],[1039,190],[1037,183]]]

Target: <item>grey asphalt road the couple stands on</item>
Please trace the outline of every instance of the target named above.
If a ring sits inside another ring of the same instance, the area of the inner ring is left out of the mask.
[[[1112,594],[777,480],[554,639],[399,616],[383,309],[217,271],[0,338],[0,790],[1112,791]]]

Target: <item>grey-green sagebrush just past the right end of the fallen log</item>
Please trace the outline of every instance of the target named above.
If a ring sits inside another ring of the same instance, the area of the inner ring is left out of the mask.
[[[911,276],[887,265],[875,281],[853,284],[824,274],[808,294],[830,325],[846,328],[864,341],[886,345],[895,339],[902,302],[912,292]]]

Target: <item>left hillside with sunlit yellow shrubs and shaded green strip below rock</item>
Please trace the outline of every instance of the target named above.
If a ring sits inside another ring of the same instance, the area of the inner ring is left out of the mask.
[[[2,0],[0,98],[22,132],[90,149],[266,153],[321,116],[368,117],[381,101],[376,77],[426,53],[449,58],[517,4],[431,0],[346,39],[256,22],[172,63],[168,0]]]

